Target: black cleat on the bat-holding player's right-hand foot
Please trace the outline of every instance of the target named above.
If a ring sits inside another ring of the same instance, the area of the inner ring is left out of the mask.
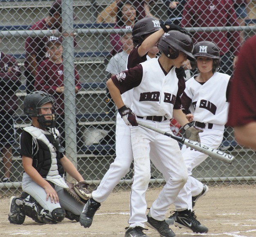
[[[168,224],[165,221],[157,221],[156,219],[154,219],[153,217],[150,217],[149,215],[150,213],[148,213],[147,215],[148,221],[145,223],[148,227],[156,230],[161,237],[175,236],[175,234],[169,228]]]

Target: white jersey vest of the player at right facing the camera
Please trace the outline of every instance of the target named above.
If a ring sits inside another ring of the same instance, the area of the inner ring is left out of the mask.
[[[226,91],[230,76],[216,72],[204,84],[195,80],[197,76],[186,81],[184,90],[184,93],[192,100],[189,109],[194,115],[194,121],[226,124],[228,112]]]

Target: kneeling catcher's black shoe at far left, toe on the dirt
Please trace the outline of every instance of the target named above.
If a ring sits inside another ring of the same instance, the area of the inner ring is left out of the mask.
[[[26,215],[22,212],[22,199],[12,196],[9,202],[8,220],[11,224],[21,225],[25,221]]]

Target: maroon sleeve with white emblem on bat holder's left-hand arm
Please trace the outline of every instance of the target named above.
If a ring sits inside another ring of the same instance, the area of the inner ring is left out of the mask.
[[[121,94],[130,89],[139,86],[141,83],[143,76],[143,69],[141,64],[127,70],[123,71],[117,75],[113,75],[111,77],[112,81],[114,82],[115,86],[119,89]]]

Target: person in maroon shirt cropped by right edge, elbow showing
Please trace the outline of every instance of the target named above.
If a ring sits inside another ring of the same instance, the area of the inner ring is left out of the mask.
[[[236,141],[256,150],[256,36],[240,50],[231,82],[228,122]]]

